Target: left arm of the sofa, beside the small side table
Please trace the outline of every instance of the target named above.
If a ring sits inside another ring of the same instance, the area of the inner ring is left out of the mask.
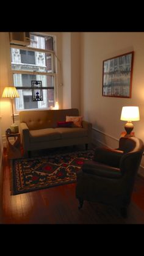
[[[29,128],[26,123],[20,123],[20,133],[24,150],[29,148]]]

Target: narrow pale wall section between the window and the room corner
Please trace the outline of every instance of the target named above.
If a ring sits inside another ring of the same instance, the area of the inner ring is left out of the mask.
[[[62,33],[63,109],[80,111],[80,33]]]

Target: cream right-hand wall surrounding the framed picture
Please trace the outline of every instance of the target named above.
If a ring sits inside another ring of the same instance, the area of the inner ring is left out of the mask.
[[[103,60],[130,51],[134,51],[132,98],[103,97]],[[117,147],[126,123],[120,120],[122,106],[139,106],[134,132],[144,141],[144,32],[81,33],[81,109],[93,124],[96,143]]]

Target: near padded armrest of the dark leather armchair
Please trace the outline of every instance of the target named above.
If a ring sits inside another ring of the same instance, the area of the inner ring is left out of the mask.
[[[95,161],[87,161],[82,166],[82,171],[86,174],[97,175],[104,178],[121,178],[122,177],[122,174],[119,168],[107,166],[101,163],[96,163]]]

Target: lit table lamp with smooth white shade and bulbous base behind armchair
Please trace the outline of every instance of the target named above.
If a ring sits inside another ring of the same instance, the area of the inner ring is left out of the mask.
[[[132,124],[132,121],[139,121],[140,120],[140,114],[139,114],[139,107],[123,107],[121,111],[121,118],[122,121],[127,121],[127,123],[124,125],[124,129],[126,130],[125,137],[131,137],[132,130],[134,129],[134,125]]]

